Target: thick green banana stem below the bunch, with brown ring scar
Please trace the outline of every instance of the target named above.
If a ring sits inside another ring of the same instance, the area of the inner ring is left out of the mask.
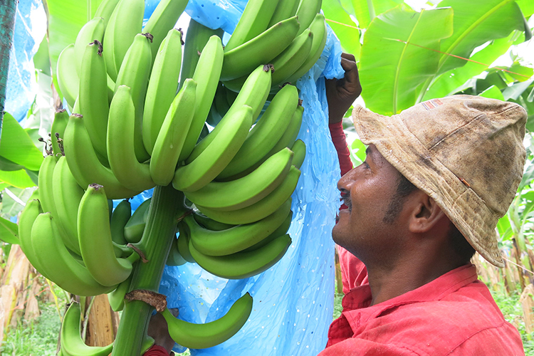
[[[130,291],[147,289],[157,292],[176,233],[177,217],[186,210],[183,201],[184,194],[171,184],[154,189],[147,225],[140,242],[140,248],[149,262],[137,262],[132,271]],[[140,300],[125,301],[112,356],[140,356],[153,309]]]

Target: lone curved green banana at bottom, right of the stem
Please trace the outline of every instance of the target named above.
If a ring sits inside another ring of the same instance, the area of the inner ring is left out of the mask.
[[[167,320],[169,335],[179,345],[191,349],[205,349],[219,345],[234,336],[245,325],[252,311],[252,297],[245,293],[236,300],[222,318],[204,324],[187,323],[174,318],[165,308],[162,315]]]

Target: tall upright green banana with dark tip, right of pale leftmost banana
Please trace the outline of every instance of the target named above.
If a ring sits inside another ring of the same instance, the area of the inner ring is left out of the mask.
[[[106,132],[108,127],[108,74],[102,58],[102,43],[86,45],[80,67],[80,105],[85,129],[98,155],[107,159]]]

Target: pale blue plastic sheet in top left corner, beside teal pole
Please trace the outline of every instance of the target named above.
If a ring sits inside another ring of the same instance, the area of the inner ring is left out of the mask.
[[[26,117],[35,98],[33,55],[46,32],[46,16],[41,0],[19,0],[16,9],[13,45],[9,53],[6,112],[17,121]]]

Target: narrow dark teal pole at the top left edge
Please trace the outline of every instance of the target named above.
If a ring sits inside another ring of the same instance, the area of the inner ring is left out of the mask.
[[[13,41],[17,2],[17,0],[0,0],[0,134],[4,120],[9,52]]]

